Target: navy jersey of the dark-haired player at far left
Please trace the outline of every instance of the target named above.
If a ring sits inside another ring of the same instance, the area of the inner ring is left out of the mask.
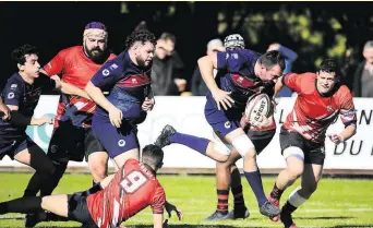
[[[7,82],[1,97],[5,105],[19,107],[19,112],[25,117],[33,117],[34,109],[39,101],[40,94],[50,92],[56,87],[56,82],[40,74],[33,84],[28,84],[19,73],[14,73]],[[12,139],[23,136],[27,127],[15,127],[0,119],[0,141],[13,141]]]

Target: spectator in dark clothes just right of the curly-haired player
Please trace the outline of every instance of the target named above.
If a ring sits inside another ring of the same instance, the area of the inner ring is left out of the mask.
[[[176,96],[186,87],[186,81],[181,77],[184,63],[175,50],[176,37],[163,33],[157,40],[152,68],[152,87],[155,95]]]

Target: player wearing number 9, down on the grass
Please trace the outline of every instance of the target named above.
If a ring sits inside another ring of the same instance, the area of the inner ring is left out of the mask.
[[[143,148],[141,161],[128,159],[115,175],[87,191],[20,197],[0,203],[0,214],[46,209],[67,220],[82,223],[83,227],[107,228],[118,227],[151,206],[154,228],[168,227],[167,223],[164,224],[165,207],[169,216],[175,211],[179,219],[182,219],[182,212],[166,202],[165,190],[156,179],[163,159],[160,147],[147,145]]]

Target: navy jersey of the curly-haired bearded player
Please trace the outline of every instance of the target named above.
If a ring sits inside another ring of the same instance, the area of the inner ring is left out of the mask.
[[[152,95],[151,73],[152,65],[140,68],[132,62],[129,52],[122,52],[105,63],[91,82],[103,91],[110,92],[107,99],[122,110],[124,119],[144,119],[141,106],[145,97]],[[108,112],[101,107],[97,107],[95,115],[108,117]]]

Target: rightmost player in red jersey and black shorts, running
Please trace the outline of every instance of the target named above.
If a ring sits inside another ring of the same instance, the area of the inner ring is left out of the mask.
[[[317,189],[325,159],[327,128],[340,116],[345,130],[329,135],[335,144],[347,141],[357,131],[352,95],[346,85],[339,83],[337,72],[336,61],[325,59],[316,73],[288,73],[276,84],[275,93],[286,85],[298,94],[279,136],[287,168],[278,175],[268,197],[279,205],[282,192],[302,177],[301,187],[289,195],[281,208],[279,217],[286,228],[297,227],[291,214]],[[278,220],[278,216],[273,220]]]

